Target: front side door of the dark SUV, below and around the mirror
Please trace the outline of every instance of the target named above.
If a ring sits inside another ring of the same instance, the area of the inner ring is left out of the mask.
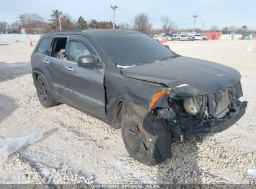
[[[100,62],[100,57],[92,45],[83,37],[69,37],[69,54],[67,57],[67,87],[72,93],[70,103],[79,109],[87,111],[100,118],[105,114],[105,89],[104,70],[78,67],[80,56],[95,55]]]

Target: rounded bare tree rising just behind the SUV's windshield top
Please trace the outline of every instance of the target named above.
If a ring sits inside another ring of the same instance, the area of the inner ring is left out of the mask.
[[[143,33],[148,33],[148,30],[151,29],[152,24],[149,21],[148,14],[146,13],[141,13],[135,16],[133,19],[133,29],[143,32]]]

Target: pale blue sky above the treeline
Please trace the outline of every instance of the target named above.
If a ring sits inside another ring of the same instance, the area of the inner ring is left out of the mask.
[[[113,19],[111,5],[118,6],[116,9],[116,24],[120,22],[132,23],[136,14],[145,12],[150,17],[153,28],[161,28],[160,17],[167,15],[179,28],[192,28],[194,25],[193,15],[197,15],[196,27],[204,30],[212,25],[218,25],[219,29],[228,25],[249,29],[256,29],[256,1],[255,0],[0,0],[0,22],[9,24],[17,20],[19,14],[36,13],[47,21],[50,19],[52,10],[58,9],[69,14],[73,21],[79,16],[85,20],[96,19],[97,21],[110,21]],[[7,12],[4,12],[7,11]],[[8,12],[12,12],[8,13]],[[15,14],[13,14],[15,13]]]

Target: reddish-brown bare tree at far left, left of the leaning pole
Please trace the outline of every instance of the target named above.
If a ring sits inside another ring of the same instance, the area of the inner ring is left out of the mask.
[[[38,14],[26,13],[21,15],[20,23],[26,34],[44,34],[46,22]]]

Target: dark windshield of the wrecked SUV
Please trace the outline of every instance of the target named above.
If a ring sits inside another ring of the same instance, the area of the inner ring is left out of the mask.
[[[102,36],[95,40],[115,65],[139,65],[178,56],[144,34]]]

